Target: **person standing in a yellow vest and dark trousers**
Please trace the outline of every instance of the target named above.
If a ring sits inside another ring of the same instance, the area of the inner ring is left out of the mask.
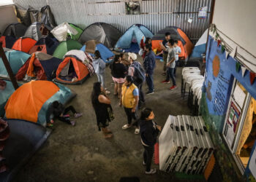
[[[132,119],[135,119],[135,134],[140,132],[137,122],[137,108],[139,102],[139,90],[135,84],[133,84],[132,76],[126,76],[124,79],[124,84],[122,87],[121,98],[119,106],[124,107],[124,111],[127,114],[128,124],[124,124],[122,127],[123,130],[127,130],[129,127],[132,127]]]

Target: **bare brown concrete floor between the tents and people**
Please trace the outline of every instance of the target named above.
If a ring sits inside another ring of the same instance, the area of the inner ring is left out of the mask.
[[[154,73],[155,93],[146,96],[146,106],[153,108],[155,121],[162,127],[168,114],[190,114],[187,100],[181,98],[181,68],[178,68],[178,89],[170,91],[171,84],[161,84],[165,79],[162,66],[157,60]],[[14,181],[119,181],[123,176],[138,176],[140,181],[180,181],[174,174],[158,171],[155,175],[145,175],[143,146],[140,135],[134,129],[121,130],[127,123],[123,108],[118,106],[118,98],[113,96],[113,84],[110,68],[106,68],[106,85],[110,95],[116,119],[110,123],[112,139],[102,138],[97,129],[96,116],[91,106],[91,90],[97,76],[93,76],[82,85],[67,87],[78,96],[70,105],[83,113],[72,127],[57,121],[48,141],[29,160],[18,173]],[[143,89],[146,92],[146,85]],[[157,165],[153,165],[158,169]],[[181,180],[186,181],[186,180]]]

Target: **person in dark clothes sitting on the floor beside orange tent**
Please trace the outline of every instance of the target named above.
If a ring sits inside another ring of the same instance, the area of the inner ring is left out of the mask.
[[[83,115],[75,111],[75,108],[73,106],[68,106],[67,108],[64,108],[62,103],[59,103],[59,101],[57,100],[54,101],[49,107],[50,122],[53,123],[53,119],[56,118],[59,119],[61,122],[66,122],[67,124],[72,124],[72,126],[75,126],[75,121],[69,120],[70,116],[69,114],[67,114],[69,111],[72,111],[75,118]]]

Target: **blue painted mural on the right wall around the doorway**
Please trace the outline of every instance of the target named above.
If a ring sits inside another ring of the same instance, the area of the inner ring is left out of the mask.
[[[249,71],[246,71],[243,76],[237,60],[232,57],[226,58],[225,50],[209,36],[206,52],[206,79],[200,107],[217,149],[215,155],[219,166],[221,166],[223,181],[246,180],[245,176],[239,175],[236,162],[222,139],[221,133],[234,78],[246,88],[253,98],[256,98],[256,82],[251,83],[249,75]]]

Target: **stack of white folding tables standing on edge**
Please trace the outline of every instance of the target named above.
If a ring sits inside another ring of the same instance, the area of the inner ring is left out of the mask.
[[[214,146],[201,116],[169,116],[159,136],[159,168],[202,174]]]

